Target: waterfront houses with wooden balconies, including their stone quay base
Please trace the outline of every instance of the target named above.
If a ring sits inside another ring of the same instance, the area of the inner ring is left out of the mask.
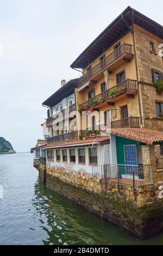
[[[43,102],[46,185],[142,238],[163,220],[162,48],[163,27],[128,7]]]

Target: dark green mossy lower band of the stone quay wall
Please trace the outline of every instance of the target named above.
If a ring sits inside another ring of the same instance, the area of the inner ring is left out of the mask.
[[[137,204],[133,191],[130,191],[131,197],[126,199],[124,194],[127,191],[117,188],[91,191],[84,186],[65,182],[53,174],[47,174],[47,187],[141,238],[155,235],[162,228],[162,200]]]

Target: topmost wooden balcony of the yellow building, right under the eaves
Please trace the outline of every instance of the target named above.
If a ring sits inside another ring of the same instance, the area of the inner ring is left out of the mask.
[[[101,62],[89,70],[86,74],[79,78],[78,87],[82,87],[90,80],[98,80],[102,74],[102,71],[108,69],[112,71],[124,62],[130,62],[134,56],[131,50],[132,45],[123,44],[105,57]]]

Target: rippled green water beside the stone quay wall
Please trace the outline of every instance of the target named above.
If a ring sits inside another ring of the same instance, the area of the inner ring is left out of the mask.
[[[46,188],[33,154],[0,156],[0,245],[163,245],[141,240]]]

